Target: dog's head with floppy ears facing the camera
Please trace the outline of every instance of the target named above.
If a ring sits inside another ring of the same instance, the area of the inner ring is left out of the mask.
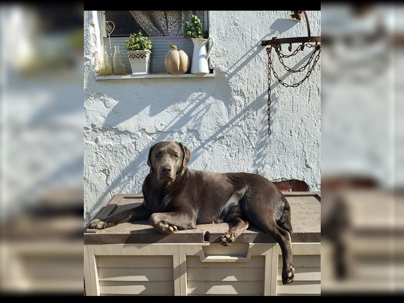
[[[189,160],[191,152],[177,141],[163,141],[150,147],[147,165],[157,173],[159,181],[173,182]]]

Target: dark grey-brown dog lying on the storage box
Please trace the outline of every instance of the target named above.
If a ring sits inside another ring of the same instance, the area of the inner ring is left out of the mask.
[[[150,225],[170,234],[194,229],[196,224],[232,222],[219,238],[230,245],[249,223],[269,233],[282,251],[282,282],[293,282],[290,207],[284,195],[268,179],[250,173],[214,173],[187,167],[190,150],[176,141],[153,145],[150,167],[142,192],[143,204],[88,223],[102,229],[119,223],[149,218]]]

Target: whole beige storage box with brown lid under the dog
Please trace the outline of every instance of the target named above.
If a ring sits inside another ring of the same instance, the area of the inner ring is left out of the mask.
[[[291,208],[294,282],[281,281],[275,240],[250,227],[230,246],[218,238],[229,225],[197,225],[170,235],[148,221],[84,233],[87,295],[320,295],[320,193],[284,192]],[[96,215],[133,208],[136,194],[115,195]]]

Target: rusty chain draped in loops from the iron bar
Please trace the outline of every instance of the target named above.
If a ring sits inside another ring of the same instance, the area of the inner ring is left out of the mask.
[[[304,66],[300,67],[300,68],[297,69],[297,70],[292,70],[292,69],[290,69],[289,67],[287,67],[287,66],[283,63],[283,59],[282,59],[282,58],[289,58],[289,57],[295,56],[299,51],[301,51],[301,50],[304,48],[304,46],[315,47],[315,49],[314,49],[312,55],[310,56],[308,62],[307,62]],[[285,87],[297,87],[297,86],[299,86],[301,83],[303,83],[307,78],[309,78],[309,76],[310,76],[310,74],[312,73],[314,67],[316,66],[317,62],[318,62],[319,59],[320,59],[320,53],[321,53],[321,46],[320,46],[320,44],[316,44],[316,45],[312,45],[312,44],[310,44],[310,43],[300,44],[299,46],[297,46],[297,48],[295,49],[295,51],[294,51],[292,54],[290,54],[290,55],[284,55],[284,54],[282,54],[282,53],[280,52],[279,44],[275,44],[275,45],[274,45],[274,48],[275,48],[276,54],[278,55],[279,62],[282,64],[283,68],[284,68],[285,70],[287,70],[288,72],[291,72],[291,73],[301,72],[301,71],[303,71],[304,69],[306,69],[306,67],[313,61],[313,58],[314,58],[314,62],[313,62],[313,65],[310,67],[310,69],[307,71],[306,76],[305,76],[303,79],[301,79],[299,82],[294,83],[294,84],[287,84],[287,83],[283,82],[283,81],[280,79],[280,77],[278,76],[278,74],[275,72],[274,66],[273,66],[273,64],[272,64],[272,57],[271,57],[272,45],[269,45],[269,46],[267,47],[267,54],[268,54],[268,135],[271,135],[271,133],[272,133],[272,131],[271,131],[271,119],[270,119],[270,116],[271,116],[271,70],[272,70],[272,73],[274,74],[275,78],[276,78],[276,79],[279,81],[279,83],[282,84],[283,86],[285,86]],[[316,55],[316,53],[317,53],[317,55]],[[315,55],[316,55],[316,56],[315,56]]]

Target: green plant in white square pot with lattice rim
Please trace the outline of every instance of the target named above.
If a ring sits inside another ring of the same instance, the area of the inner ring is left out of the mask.
[[[132,69],[132,75],[145,75],[149,73],[151,40],[143,36],[142,32],[132,33],[125,41],[126,51]]]

